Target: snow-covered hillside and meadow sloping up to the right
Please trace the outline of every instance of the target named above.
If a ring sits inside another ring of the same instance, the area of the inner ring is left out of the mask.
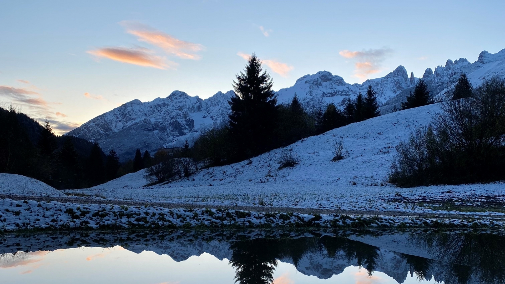
[[[276,149],[232,165],[200,170],[190,179],[164,185],[147,183],[145,171],[82,190],[66,191],[105,198],[196,203],[267,205],[358,210],[430,211],[425,202],[504,202],[503,183],[398,188],[387,183],[395,146],[416,127],[430,123],[440,111],[428,105],[352,123],[286,147],[299,164],[278,169]],[[348,157],[332,162],[333,144],[342,138]],[[467,204],[469,205],[469,204]],[[437,204],[430,204],[431,207]]]

